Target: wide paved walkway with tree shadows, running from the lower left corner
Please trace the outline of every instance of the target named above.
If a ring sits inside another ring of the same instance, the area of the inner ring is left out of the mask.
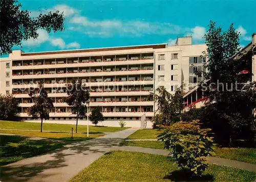
[[[0,181],[68,181],[136,130],[125,129],[6,165]]]

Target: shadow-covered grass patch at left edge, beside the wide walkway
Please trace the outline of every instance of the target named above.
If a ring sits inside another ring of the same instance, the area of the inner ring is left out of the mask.
[[[28,137],[0,135],[0,166],[61,148],[67,143],[48,140],[32,141]]]

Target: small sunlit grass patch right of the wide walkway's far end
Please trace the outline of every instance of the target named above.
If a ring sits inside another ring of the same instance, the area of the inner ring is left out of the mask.
[[[161,132],[159,129],[139,129],[127,139],[156,139]]]

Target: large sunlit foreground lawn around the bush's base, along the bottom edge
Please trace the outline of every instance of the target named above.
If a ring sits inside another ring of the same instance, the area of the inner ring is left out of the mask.
[[[161,155],[114,151],[80,171],[71,181],[187,181],[173,159]],[[196,181],[255,181],[256,173],[209,165]]]

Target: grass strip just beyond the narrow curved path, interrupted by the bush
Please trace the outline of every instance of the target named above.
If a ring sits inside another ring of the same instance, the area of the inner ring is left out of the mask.
[[[160,141],[122,141],[121,145],[163,149]],[[256,148],[220,148],[216,147],[217,157],[256,164]]]

